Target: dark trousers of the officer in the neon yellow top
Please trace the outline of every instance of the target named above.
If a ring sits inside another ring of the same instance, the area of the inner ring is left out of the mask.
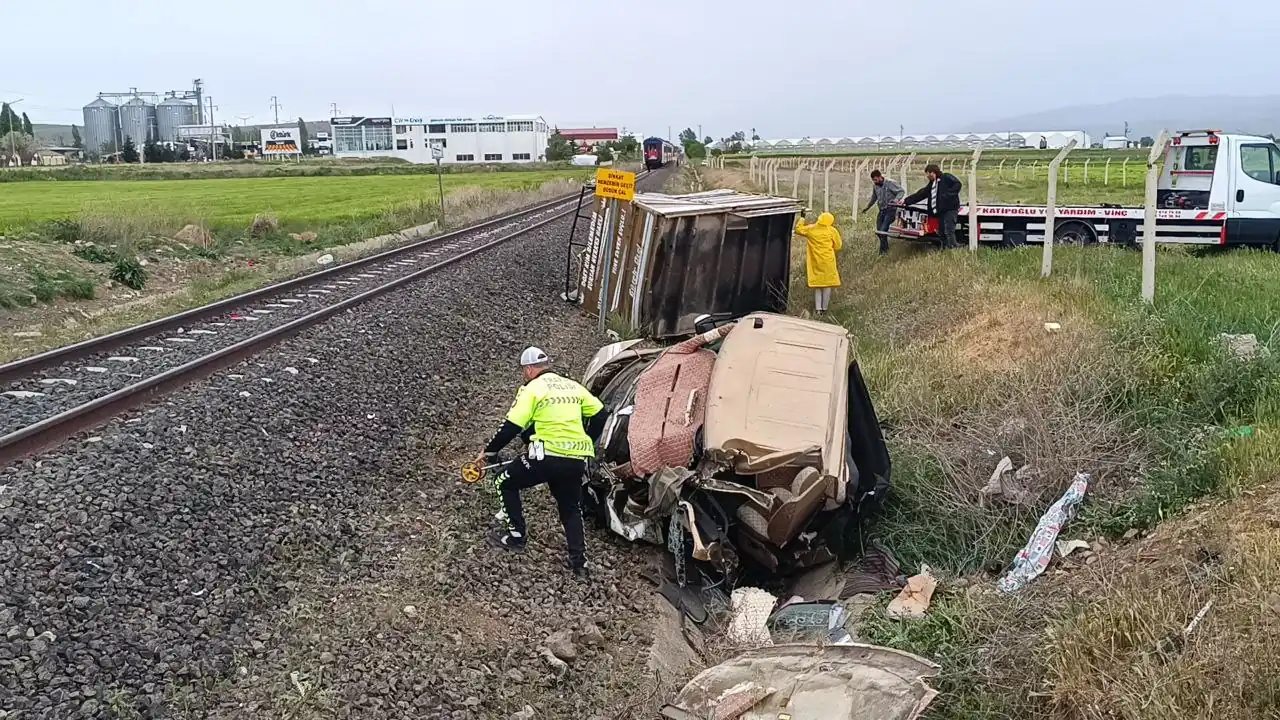
[[[508,465],[507,471],[498,479],[502,506],[507,510],[507,523],[513,532],[525,537],[527,537],[525,505],[520,500],[520,491],[547,483],[552,497],[556,498],[561,524],[564,527],[564,544],[568,546],[568,562],[572,568],[586,565],[586,537],[582,532],[582,473],[585,470],[586,464],[582,460],[552,455],[543,460],[521,457]]]

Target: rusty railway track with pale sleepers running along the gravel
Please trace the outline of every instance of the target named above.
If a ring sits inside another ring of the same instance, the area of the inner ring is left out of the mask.
[[[653,173],[641,173],[640,178]],[[559,197],[0,365],[0,465],[261,352],[361,302],[579,211]]]

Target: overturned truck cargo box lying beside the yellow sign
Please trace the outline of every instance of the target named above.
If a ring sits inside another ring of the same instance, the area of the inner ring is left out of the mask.
[[[577,297],[591,315],[618,315],[654,338],[694,332],[709,314],[780,313],[791,281],[788,197],[713,190],[599,201]]]

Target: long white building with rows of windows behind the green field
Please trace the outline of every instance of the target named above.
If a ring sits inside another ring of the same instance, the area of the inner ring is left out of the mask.
[[[434,163],[538,163],[547,159],[549,128],[539,115],[484,118],[333,118],[333,154],[338,158],[401,158]]]

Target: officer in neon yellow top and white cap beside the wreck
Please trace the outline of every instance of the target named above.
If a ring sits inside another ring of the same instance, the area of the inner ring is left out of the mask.
[[[502,428],[489,441],[480,457],[483,464],[498,461],[498,454],[517,436],[529,437],[527,452],[507,466],[495,484],[502,492],[507,529],[490,530],[489,544],[508,551],[525,550],[525,509],[520,491],[547,483],[568,546],[567,568],[586,579],[586,538],[582,532],[582,475],[586,460],[595,457],[589,421],[603,420],[604,404],[581,384],[550,370],[547,354],[526,347],[520,354],[525,384],[507,413]],[[529,430],[532,430],[529,433]],[[590,433],[590,434],[589,434]]]

